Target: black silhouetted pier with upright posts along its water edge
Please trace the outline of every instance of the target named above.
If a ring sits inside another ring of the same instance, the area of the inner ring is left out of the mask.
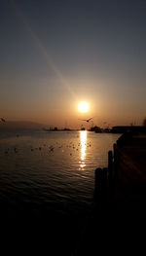
[[[83,254],[138,253],[145,249],[146,133],[126,132],[96,168],[94,208]]]

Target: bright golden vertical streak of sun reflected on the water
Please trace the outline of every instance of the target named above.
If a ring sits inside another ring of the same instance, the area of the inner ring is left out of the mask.
[[[81,155],[80,155],[80,168],[79,169],[84,169],[86,166],[85,160],[86,160],[86,151],[87,151],[87,130],[81,130],[80,131],[80,144],[81,144]]]

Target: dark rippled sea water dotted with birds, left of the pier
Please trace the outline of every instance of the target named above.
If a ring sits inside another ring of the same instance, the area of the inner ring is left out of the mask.
[[[88,214],[94,169],[107,166],[118,134],[90,131],[0,133],[1,212]]]

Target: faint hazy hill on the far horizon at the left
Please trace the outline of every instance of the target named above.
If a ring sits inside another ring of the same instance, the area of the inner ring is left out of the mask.
[[[34,122],[25,122],[25,121],[8,121],[0,122],[0,129],[40,129],[45,127],[42,124]]]

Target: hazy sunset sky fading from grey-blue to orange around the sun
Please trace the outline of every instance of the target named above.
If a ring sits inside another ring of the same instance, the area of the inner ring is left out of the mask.
[[[146,116],[145,0],[0,0],[0,115],[78,128]],[[79,113],[80,101],[90,104]]]

